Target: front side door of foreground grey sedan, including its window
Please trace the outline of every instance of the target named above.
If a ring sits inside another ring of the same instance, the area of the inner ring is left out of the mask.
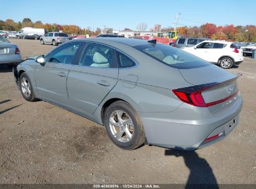
[[[55,102],[68,102],[67,77],[69,68],[82,42],[72,42],[55,49],[45,57],[45,65],[36,67],[37,95]]]

